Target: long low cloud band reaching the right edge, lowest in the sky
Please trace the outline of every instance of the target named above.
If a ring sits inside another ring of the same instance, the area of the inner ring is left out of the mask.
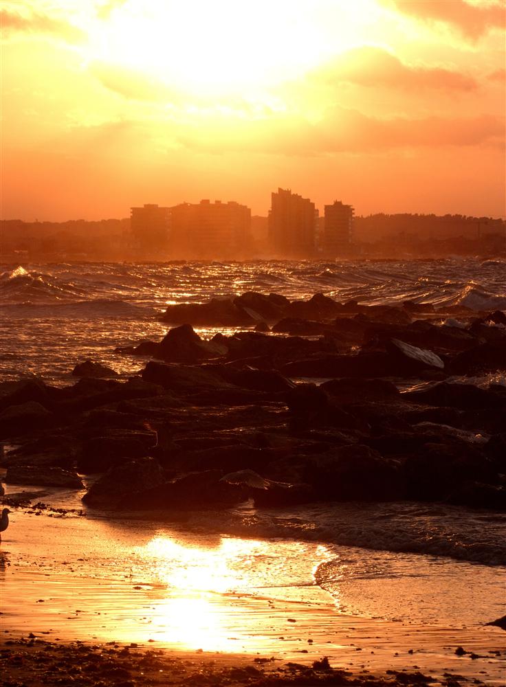
[[[320,122],[279,116],[257,122],[195,126],[175,133],[188,148],[210,153],[233,150],[274,155],[374,153],[400,148],[499,146],[505,122],[492,115],[470,118],[391,117],[379,119],[355,109],[334,106]]]

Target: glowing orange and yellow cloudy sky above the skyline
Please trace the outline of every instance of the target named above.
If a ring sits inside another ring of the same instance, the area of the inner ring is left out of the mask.
[[[2,218],[278,186],[358,214],[506,215],[506,0],[15,0]]]

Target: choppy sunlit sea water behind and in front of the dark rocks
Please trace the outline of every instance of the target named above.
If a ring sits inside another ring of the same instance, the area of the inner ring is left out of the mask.
[[[74,383],[74,365],[88,358],[110,365],[126,379],[144,363],[116,354],[115,348],[161,339],[168,326],[158,317],[168,304],[245,291],[291,299],[322,292],[341,302],[364,304],[412,300],[476,312],[506,309],[506,261],[480,258],[23,263],[3,265],[0,284],[0,381],[35,375],[54,385]],[[197,332],[211,337],[217,329]],[[498,374],[493,381],[506,384],[506,376]],[[476,436],[481,440],[486,437]],[[83,508],[79,498],[56,490],[50,502],[55,508],[78,510]],[[27,513],[17,516],[20,521],[34,519]],[[87,540],[91,549],[83,563],[76,563],[83,554],[75,543],[61,552],[62,559],[74,561],[77,575],[101,574],[96,571],[103,563],[109,578],[124,578],[129,570],[143,582],[182,575],[188,584],[193,567],[203,561],[203,554],[195,553],[203,550],[195,541],[207,538],[215,543],[214,549],[206,544],[209,570],[219,564],[221,571],[204,581],[199,576],[199,585],[208,592],[279,587],[285,594],[289,587],[313,586],[330,595],[339,613],[444,627],[477,627],[506,613],[506,515],[501,513],[414,502],[292,510],[256,510],[244,504],[230,512],[192,513],[177,531],[172,525],[129,523],[135,537],[146,528],[152,536],[142,540],[142,553],[133,546],[128,554],[120,516],[107,519],[107,525],[100,513],[89,512],[85,519],[100,522],[105,534],[95,548],[94,538]],[[112,548],[119,538],[121,556],[104,556],[108,537]],[[40,564],[34,563],[34,554],[24,555],[23,565]],[[162,559],[162,566],[153,563]],[[50,557],[44,565],[54,578]]]

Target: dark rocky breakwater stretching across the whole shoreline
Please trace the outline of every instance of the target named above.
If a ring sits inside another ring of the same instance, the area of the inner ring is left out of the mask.
[[[245,499],[506,510],[504,313],[247,293],[164,319],[183,322],[118,349],[144,358],[128,381],[87,365],[98,379],[0,385],[7,482],[95,474],[90,508],[164,517]],[[203,324],[250,328],[205,341]]]

